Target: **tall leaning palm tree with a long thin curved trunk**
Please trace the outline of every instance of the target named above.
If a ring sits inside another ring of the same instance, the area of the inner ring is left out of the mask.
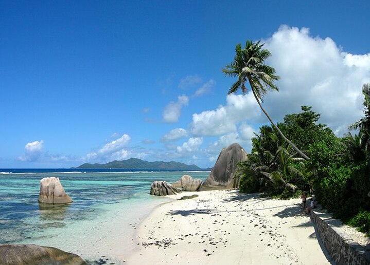
[[[241,48],[241,44],[236,45],[236,55],[234,62],[226,65],[222,71],[231,77],[237,77],[238,80],[231,86],[228,93],[235,93],[240,87],[243,94],[246,92],[245,82],[248,81],[251,87],[254,98],[259,107],[265,113],[271,124],[278,131],[280,136],[287,141],[296,152],[305,159],[309,159],[301,150],[298,149],[288,138],[284,136],[281,130],[272,121],[267,111],[262,107],[263,97],[268,90],[277,90],[273,81],[279,80],[275,75],[275,69],[265,64],[265,60],[271,55],[267,49],[262,49],[264,43],[246,41],[245,48]]]

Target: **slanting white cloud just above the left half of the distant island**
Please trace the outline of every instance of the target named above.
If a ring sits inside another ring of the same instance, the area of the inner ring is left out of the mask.
[[[127,134],[120,138],[105,144],[97,152],[92,152],[86,155],[88,160],[122,160],[128,157],[129,150],[125,149],[131,137]]]

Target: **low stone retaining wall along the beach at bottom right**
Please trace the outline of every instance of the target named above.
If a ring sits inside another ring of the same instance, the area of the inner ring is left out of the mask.
[[[311,211],[311,217],[326,250],[338,265],[370,264],[370,253],[346,233],[330,225],[331,218],[322,219],[314,211]]]

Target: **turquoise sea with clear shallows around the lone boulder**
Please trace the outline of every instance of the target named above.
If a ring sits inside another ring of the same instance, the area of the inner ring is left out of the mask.
[[[205,180],[209,172],[0,169],[0,243],[47,245],[90,260],[106,257],[114,253],[114,237],[132,238],[140,220],[170,200],[149,195],[150,184],[183,175]],[[73,203],[39,204],[44,177],[59,177]],[[117,226],[124,228],[119,235]]]

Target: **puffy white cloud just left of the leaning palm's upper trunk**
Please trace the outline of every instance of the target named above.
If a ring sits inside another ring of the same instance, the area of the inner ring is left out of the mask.
[[[230,94],[226,105],[192,115],[191,133],[199,136],[220,136],[237,131],[241,121],[256,118],[260,110],[252,93]]]

